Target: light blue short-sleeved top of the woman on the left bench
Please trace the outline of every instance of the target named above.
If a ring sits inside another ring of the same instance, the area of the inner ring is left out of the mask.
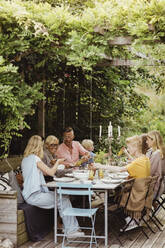
[[[37,191],[49,192],[48,188],[43,186],[46,182],[42,171],[37,167],[39,161],[41,159],[34,154],[22,160],[21,168],[24,179],[22,194],[25,200]]]

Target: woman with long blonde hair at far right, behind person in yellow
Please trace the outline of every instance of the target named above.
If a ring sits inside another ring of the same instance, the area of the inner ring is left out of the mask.
[[[157,130],[148,132],[147,144],[149,148],[151,148],[151,152],[149,154],[149,159],[151,162],[151,175],[158,176],[154,189],[154,198],[159,198],[164,191],[163,177],[165,176],[165,145],[160,132]]]

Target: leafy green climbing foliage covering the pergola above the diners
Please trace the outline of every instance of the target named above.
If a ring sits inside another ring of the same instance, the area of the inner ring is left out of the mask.
[[[5,151],[20,126],[28,126],[24,118],[35,112],[42,99],[41,85],[49,110],[47,124],[53,118],[57,126],[74,123],[83,130],[79,138],[89,133],[91,109],[95,137],[99,124],[105,128],[109,120],[120,124],[125,134],[135,117],[140,125],[147,99],[134,89],[141,78],[131,68],[99,65],[107,56],[142,56],[147,63],[164,63],[165,0],[0,2],[0,111],[4,116],[0,132]],[[131,49],[109,45],[114,37],[129,35]],[[155,83],[160,90],[164,72],[159,71],[161,77]],[[61,113],[67,114],[66,122]],[[162,129],[159,121],[157,127]]]

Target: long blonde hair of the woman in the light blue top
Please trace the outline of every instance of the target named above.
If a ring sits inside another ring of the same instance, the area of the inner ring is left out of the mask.
[[[41,159],[43,158],[43,141],[39,135],[33,135],[29,139],[23,157],[27,157],[31,154],[34,154]]]

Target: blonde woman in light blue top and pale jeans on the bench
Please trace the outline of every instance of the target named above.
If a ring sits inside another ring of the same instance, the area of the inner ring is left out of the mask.
[[[24,158],[21,163],[23,174],[23,197],[28,204],[51,209],[54,208],[54,192],[49,191],[44,179],[44,175],[54,176],[58,165],[63,159],[58,159],[50,168],[42,162],[43,158],[43,141],[38,135],[32,136],[24,151]],[[63,208],[71,207],[70,200],[67,196],[63,197]],[[64,228],[68,237],[83,236],[84,233],[79,231],[79,224],[75,217],[62,215],[60,209],[60,200],[57,197],[57,206],[60,216],[63,220]]]

